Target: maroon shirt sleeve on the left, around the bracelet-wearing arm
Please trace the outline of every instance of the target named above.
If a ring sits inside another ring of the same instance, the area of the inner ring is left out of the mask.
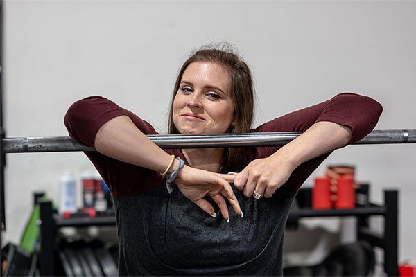
[[[98,129],[117,116],[130,117],[144,134],[157,134],[152,125],[145,120],[101,96],[91,96],[73,103],[65,114],[64,124],[69,136],[94,147]],[[161,184],[159,174],[153,170],[118,161],[99,152],[85,154],[109,186],[113,197],[139,195]]]

